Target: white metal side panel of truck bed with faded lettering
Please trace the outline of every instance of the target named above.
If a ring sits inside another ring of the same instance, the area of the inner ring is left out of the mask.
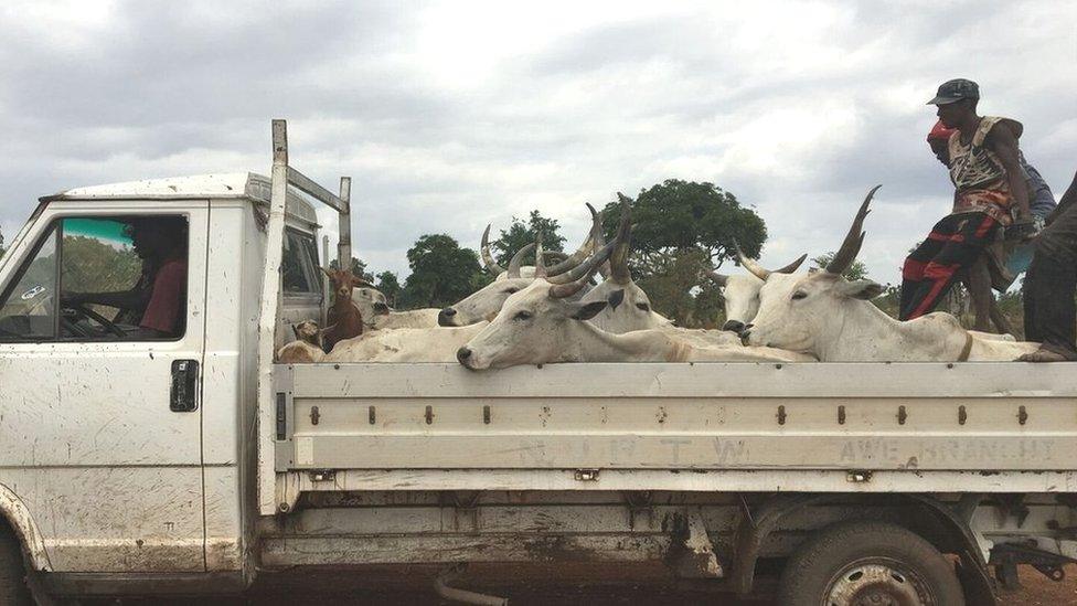
[[[988,490],[1012,490],[1022,479],[1034,490],[1068,491],[1077,489],[1075,371],[1069,363],[1013,362],[483,372],[457,364],[277,365],[284,421],[275,470],[328,471],[338,487],[346,477],[349,485],[376,478],[382,488],[401,488],[406,472],[416,486],[440,478],[433,483],[473,488],[486,478],[543,488],[541,478],[552,472],[590,489],[715,489],[721,477],[731,488],[772,490],[800,477],[819,490],[834,489],[820,482],[834,476],[868,490],[902,490],[894,478],[928,490],[924,480],[932,478],[934,490],[947,490],[963,476]],[[706,474],[718,477],[690,478]],[[317,489],[309,479],[292,481]]]

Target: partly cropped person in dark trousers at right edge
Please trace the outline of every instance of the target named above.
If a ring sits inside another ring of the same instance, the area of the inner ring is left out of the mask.
[[[1041,341],[1023,362],[1077,360],[1077,174],[1034,241],[1025,276],[1025,339]]]

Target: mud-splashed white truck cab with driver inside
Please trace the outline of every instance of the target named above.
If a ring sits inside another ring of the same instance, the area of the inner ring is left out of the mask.
[[[252,173],[73,189],[43,198],[4,255],[0,508],[35,570],[239,570],[269,190]],[[170,248],[147,251],[140,231],[160,228]],[[276,345],[321,318],[318,228],[292,192]],[[182,278],[156,289],[172,300],[84,302],[145,287],[154,254]],[[149,328],[153,309],[171,326]]]

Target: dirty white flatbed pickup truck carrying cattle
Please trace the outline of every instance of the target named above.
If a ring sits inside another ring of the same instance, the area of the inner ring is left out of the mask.
[[[324,311],[314,205],[350,257],[348,190],[278,120],[270,178],[41,199],[0,261],[0,602],[664,561],[782,604],[991,604],[1077,556],[1069,363],[275,364]],[[73,295],[136,290],[162,219],[177,321]]]

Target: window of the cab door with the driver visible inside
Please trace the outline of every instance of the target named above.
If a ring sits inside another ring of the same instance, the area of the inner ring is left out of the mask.
[[[183,216],[56,221],[14,287],[3,294],[0,341],[181,338],[186,245]]]

